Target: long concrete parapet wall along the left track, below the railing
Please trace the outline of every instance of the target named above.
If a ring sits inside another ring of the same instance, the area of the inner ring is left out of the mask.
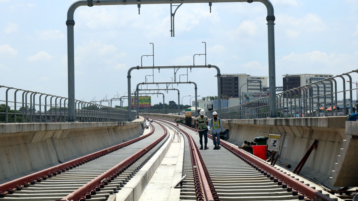
[[[133,139],[142,121],[0,124],[0,183]]]

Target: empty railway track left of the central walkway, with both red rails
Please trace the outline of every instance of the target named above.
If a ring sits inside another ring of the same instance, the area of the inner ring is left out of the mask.
[[[0,201],[103,201],[121,189],[169,137],[159,123],[140,138],[0,185]],[[41,176],[40,176],[41,175]]]

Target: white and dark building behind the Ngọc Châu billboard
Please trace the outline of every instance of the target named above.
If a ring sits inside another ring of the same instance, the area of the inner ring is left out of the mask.
[[[262,88],[267,87],[267,78],[248,74],[222,74],[221,94],[240,98],[242,92],[262,92]],[[255,81],[258,83],[252,83]]]

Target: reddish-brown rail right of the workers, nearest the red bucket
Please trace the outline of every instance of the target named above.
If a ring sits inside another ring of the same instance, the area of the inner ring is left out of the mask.
[[[157,118],[154,118],[157,119]],[[170,120],[165,120],[170,121]],[[173,121],[170,121],[173,122]],[[186,128],[195,131],[195,129],[186,126],[185,124],[180,124]],[[208,137],[212,139],[212,135],[208,134]],[[286,175],[285,173],[277,170],[276,168],[263,163],[254,156],[248,155],[247,153],[241,151],[239,148],[233,147],[231,144],[220,141],[220,144],[225,147],[228,151],[232,152],[234,155],[241,158],[251,167],[256,168],[259,172],[263,173],[265,176],[277,182],[277,185],[282,185],[282,188],[287,188],[287,192],[292,192],[292,195],[298,195],[300,200],[306,201],[333,201],[334,199],[324,195],[321,192],[314,190],[313,188],[301,183],[294,178]]]

